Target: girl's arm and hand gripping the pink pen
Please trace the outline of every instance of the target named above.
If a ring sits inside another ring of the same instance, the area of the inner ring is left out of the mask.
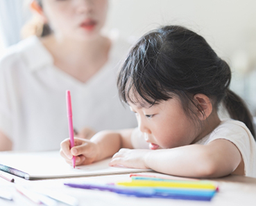
[[[60,155],[71,165],[71,159],[76,156],[76,165],[88,165],[103,160],[117,153],[121,148],[132,148],[130,135],[133,129],[120,131],[101,131],[91,140],[74,138],[75,147],[70,149],[69,139],[61,142]]]

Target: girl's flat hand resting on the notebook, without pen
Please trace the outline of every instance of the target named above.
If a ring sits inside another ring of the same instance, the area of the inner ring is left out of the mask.
[[[123,165],[124,167],[148,169],[145,163],[146,156],[151,152],[148,149],[120,149],[114,154],[110,166]]]

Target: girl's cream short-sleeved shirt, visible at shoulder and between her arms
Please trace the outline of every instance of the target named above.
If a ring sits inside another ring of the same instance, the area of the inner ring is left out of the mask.
[[[131,139],[134,148],[148,149],[148,142],[138,128],[133,131]],[[222,120],[214,131],[195,144],[208,144],[218,139],[228,140],[239,149],[244,160],[245,176],[256,178],[256,143],[246,125],[237,120]]]

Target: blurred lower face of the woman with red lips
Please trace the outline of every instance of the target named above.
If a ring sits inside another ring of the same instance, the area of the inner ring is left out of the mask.
[[[56,35],[91,39],[105,24],[108,0],[42,0],[42,8]]]

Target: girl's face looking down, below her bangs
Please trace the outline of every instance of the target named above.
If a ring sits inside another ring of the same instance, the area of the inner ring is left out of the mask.
[[[180,147],[196,139],[195,124],[185,115],[177,97],[151,107],[128,103],[151,149]]]

